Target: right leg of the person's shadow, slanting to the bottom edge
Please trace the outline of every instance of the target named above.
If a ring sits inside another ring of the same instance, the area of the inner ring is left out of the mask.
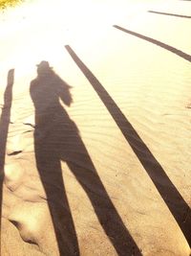
[[[117,209],[107,194],[99,176],[96,173],[95,166],[85,149],[80,137],[75,137],[75,151],[79,151],[80,161],[83,166],[74,164],[74,162],[67,161],[71,171],[74,173],[76,179],[83,187],[87,196],[90,198],[95,209],[96,216],[108,236],[110,242],[114,245],[117,255],[141,255],[138,245],[130,235],[123,221],[117,213]],[[77,155],[72,157],[77,159]]]

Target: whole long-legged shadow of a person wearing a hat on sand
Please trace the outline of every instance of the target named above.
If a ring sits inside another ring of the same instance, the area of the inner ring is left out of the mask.
[[[73,102],[69,86],[50,67],[37,65],[30,92],[35,108],[34,151],[44,186],[60,255],[79,255],[74,221],[62,178],[60,161],[65,161],[83,187],[96,216],[118,255],[141,255],[109,198],[77,127],[61,105]]]

